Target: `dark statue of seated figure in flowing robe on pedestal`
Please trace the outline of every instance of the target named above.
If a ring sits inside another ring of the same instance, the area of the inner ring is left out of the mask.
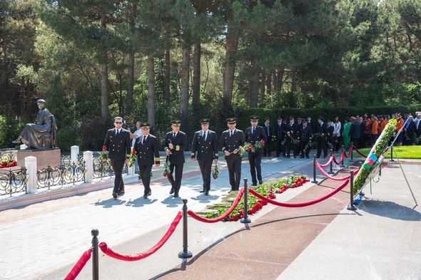
[[[27,123],[21,135],[14,143],[24,143],[29,149],[45,149],[56,147],[56,123],[54,116],[46,108],[46,101],[36,101],[39,112],[35,123]]]

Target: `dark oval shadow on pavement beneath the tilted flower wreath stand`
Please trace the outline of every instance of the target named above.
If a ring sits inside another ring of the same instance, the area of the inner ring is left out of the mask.
[[[361,211],[402,221],[421,221],[421,213],[395,202],[382,200],[362,200]]]

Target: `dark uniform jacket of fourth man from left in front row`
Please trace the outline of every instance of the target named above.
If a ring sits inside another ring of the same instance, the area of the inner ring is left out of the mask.
[[[218,159],[218,142],[214,131],[206,131],[206,140],[203,140],[202,130],[196,131],[191,144],[191,158],[196,157],[196,152],[198,152],[198,160]]]

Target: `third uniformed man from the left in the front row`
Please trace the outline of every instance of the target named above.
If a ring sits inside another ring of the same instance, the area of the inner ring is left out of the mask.
[[[183,177],[183,166],[184,166],[184,149],[186,148],[187,135],[180,131],[181,120],[173,120],[171,122],[170,131],[166,134],[166,154],[170,161],[170,174],[168,175],[168,181],[171,183],[170,195],[174,194],[174,197],[178,197],[178,192],[181,187],[181,177]],[[174,167],[176,168],[176,179],[174,180],[173,172]]]

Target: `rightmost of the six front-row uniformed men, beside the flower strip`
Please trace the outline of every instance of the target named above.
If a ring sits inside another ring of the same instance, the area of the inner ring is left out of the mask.
[[[245,142],[249,142],[255,145],[256,142],[260,142],[261,140],[266,142],[266,134],[265,130],[261,126],[258,126],[259,117],[257,115],[252,115],[250,117],[250,128],[245,130]],[[258,181],[256,180],[256,172],[257,172],[257,179],[259,180],[259,184],[263,184],[262,180],[262,168],[260,167],[260,162],[262,162],[262,155],[263,155],[263,148],[256,149],[255,152],[248,152],[248,162],[250,163],[250,173],[251,173],[251,181],[252,185],[258,185]]]

